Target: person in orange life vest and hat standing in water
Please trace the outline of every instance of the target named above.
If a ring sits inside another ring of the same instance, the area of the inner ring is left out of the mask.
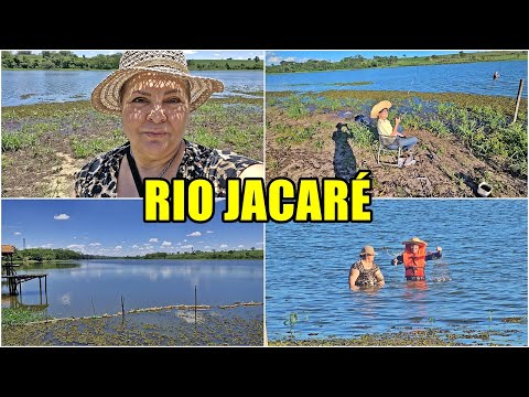
[[[406,279],[408,281],[424,281],[424,267],[427,260],[439,259],[443,256],[442,248],[438,247],[435,253],[427,253],[428,243],[419,237],[413,237],[402,243],[404,251],[392,260],[393,266],[404,264]]]

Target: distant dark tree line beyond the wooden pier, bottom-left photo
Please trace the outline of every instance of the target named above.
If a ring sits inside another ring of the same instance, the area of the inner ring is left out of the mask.
[[[46,260],[79,260],[79,259],[262,259],[263,250],[256,249],[242,249],[242,250],[223,250],[223,251],[201,251],[193,250],[192,253],[152,253],[143,256],[102,256],[102,255],[88,255],[74,251],[72,249],[63,248],[26,248],[15,250],[13,254],[13,261],[46,261]],[[2,258],[6,260],[6,258]]]

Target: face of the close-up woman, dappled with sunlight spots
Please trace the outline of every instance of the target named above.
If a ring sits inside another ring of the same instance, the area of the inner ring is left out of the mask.
[[[121,117],[133,153],[159,159],[180,146],[190,116],[190,92],[184,81],[145,72],[123,86]]]

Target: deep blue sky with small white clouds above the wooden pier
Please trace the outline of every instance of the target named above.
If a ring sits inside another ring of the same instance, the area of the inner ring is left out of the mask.
[[[142,200],[2,200],[2,244],[94,255],[263,247],[263,225],[223,223],[218,202],[205,224],[144,223]]]

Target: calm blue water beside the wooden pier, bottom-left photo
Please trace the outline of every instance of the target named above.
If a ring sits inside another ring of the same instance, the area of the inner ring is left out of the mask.
[[[36,271],[42,267],[18,272]],[[194,304],[195,286],[198,304],[263,300],[261,260],[80,260],[75,267],[47,262],[45,272],[50,316],[117,313],[121,297],[126,310]],[[39,285],[24,283],[21,302],[39,299]]]

